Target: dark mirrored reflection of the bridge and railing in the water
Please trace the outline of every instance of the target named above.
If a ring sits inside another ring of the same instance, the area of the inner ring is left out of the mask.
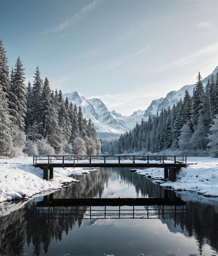
[[[186,202],[166,192],[165,198],[53,199],[51,194],[34,204],[33,211],[48,218],[187,218]]]

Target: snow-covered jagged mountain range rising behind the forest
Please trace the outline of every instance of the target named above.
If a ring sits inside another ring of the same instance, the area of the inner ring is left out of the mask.
[[[208,79],[211,79],[212,75],[214,76],[214,80],[216,79],[217,72],[218,66],[209,76],[202,80],[204,87],[206,86]],[[87,120],[91,118],[98,138],[114,138],[119,137],[120,134],[126,130],[129,131],[129,129],[136,125],[136,122],[140,124],[142,118],[147,120],[149,115],[156,115],[162,108],[168,109],[169,106],[172,108],[177,101],[180,99],[183,100],[186,90],[192,95],[194,86],[194,84],[185,85],[178,91],[171,91],[165,98],[153,100],[146,110],[135,111],[128,117],[122,116],[115,110],[110,112],[101,99],[86,99],[78,92],[63,94],[63,98],[68,98],[69,102],[71,101],[73,104],[76,104],[77,108],[80,106],[83,116]]]

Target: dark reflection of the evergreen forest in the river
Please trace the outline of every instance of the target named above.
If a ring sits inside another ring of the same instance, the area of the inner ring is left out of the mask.
[[[109,182],[119,182],[135,188],[132,197],[164,198],[165,190],[153,184],[144,177],[137,176],[129,170],[119,168],[105,168],[92,171],[79,177],[80,183],[72,184],[68,190],[53,193],[54,199],[67,198],[102,198],[104,189]],[[13,211],[7,216],[0,217],[0,255],[22,255],[26,247],[33,247],[33,255],[47,253],[53,240],[61,241],[73,227],[82,224],[82,217],[77,219],[51,219],[46,215],[34,214],[33,201],[24,207]],[[78,207],[78,211],[82,209]],[[208,243],[218,252],[218,206],[201,202],[187,202],[187,218],[162,219],[169,230],[174,226],[180,227],[180,232],[186,236],[194,236],[198,242],[199,252]],[[173,232],[173,230],[172,230]]]

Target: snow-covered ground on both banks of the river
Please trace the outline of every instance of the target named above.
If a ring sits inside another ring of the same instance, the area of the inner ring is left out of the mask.
[[[194,191],[207,197],[218,197],[218,158],[187,157],[187,164],[187,168],[178,172],[176,182],[163,181],[163,168],[147,168],[136,173],[174,191]],[[47,181],[43,180],[43,171],[33,166],[32,157],[0,157],[0,202],[62,189],[68,183],[78,182],[70,177],[73,174],[82,175],[92,170],[55,168],[54,178]]]

